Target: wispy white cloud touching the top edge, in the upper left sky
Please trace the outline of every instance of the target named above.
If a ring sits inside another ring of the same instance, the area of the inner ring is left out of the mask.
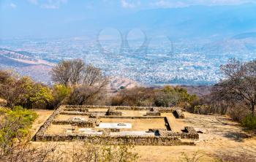
[[[37,5],[44,9],[59,9],[62,4],[66,4],[67,0],[28,0],[31,4]]]

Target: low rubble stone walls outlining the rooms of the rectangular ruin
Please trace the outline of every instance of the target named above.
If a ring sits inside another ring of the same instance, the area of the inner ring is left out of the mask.
[[[173,132],[170,126],[170,120],[168,117],[160,116],[143,116],[143,117],[122,117],[122,116],[99,116],[96,112],[72,112],[64,111],[64,109],[87,109],[87,108],[99,108],[98,106],[61,106],[53,112],[52,115],[46,120],[46,122],[39,128],[37,134],[34,136],[34,141],[72,141],[72,140],[86,140],[86,142],[91,142],[97,144],[100,142],[110,144],[135,144],[135,145],[180,145],[180,144],[194,144],[194,142],[181,142],[181,139],[198,139],[199,136],[194,128],[185,127],[184,132]],[[106,108],[106,107],[101,107]],[[148,111],[153,110],[153,112],[170,112],[171,110],[159,107],[108,107],[111,108],[110,112],[115,112],[116,109],[129,109],[129,110],[141,110],[146,109]],[[100,108],[99,108],[100,109]],[[162,110],[161,110],[162,109]],[[113,111],[112,111],[113,110]],[[179,112],[177,112],[178,114]],[[89,120],[55,120],[59,114],[68,114],[68,115],[89,115]],[[102,129],[103,135],[95,134],[46,134],[47,128],[51,124],[70,124],[75,126],[83,126],[86,128],[93,128],[99,122],[99,118],[129,118],[129,119],[154,119],[154,118],[164,118],[167,129],[150,129],[149,131],[154,132],[155,136],[110,136],[112,131],[120,131],[119,129]]]

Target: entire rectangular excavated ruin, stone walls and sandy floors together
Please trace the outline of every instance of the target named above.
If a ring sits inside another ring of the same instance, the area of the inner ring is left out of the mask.
[[[62,105],[39,128],[33,140],[83,140],[95,144],[181,145],[199,138],[191,126],[178,124],[178,107],[108,107]]]

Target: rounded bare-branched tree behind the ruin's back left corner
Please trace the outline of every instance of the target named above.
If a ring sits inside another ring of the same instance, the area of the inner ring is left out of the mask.
[[[52,70],[54,82],[72,88],[68,104],[89,104],[97,99],[108,85],[101,69],[81,60],[62,61]]]

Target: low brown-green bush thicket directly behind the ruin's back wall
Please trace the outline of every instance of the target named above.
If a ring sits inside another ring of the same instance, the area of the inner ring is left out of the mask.
[[[121,90],[111,99],[113,106],[138,107],[191,107],[197,101],[197,96],[190,95],[180,87],[165,86],[164,88],[135,87]]]

